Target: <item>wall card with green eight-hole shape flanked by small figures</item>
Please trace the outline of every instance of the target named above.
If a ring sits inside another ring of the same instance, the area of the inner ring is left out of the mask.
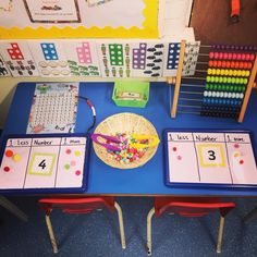
[[[103,77],[131,77],[131,46],[128,42],[102,41],[97,44]]]

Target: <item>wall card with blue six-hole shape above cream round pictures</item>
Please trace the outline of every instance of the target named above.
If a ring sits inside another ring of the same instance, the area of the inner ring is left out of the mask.
[[[71,75],[60,40],[30,40],[28,44],[41,76],[62,77]]]

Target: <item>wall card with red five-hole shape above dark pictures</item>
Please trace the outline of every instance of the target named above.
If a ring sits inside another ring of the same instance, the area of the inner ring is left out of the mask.
[[[13,76],[38,76],[26,41],[1,41],[0,51]]]

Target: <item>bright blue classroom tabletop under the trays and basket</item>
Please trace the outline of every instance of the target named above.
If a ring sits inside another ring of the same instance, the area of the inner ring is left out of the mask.
[[[27,120],[36,83],[21,83],[16,87],[3,136],[26,133]],[[79,95],[88,97],[97,112],[98,125],[109,115],[134,112],[148,119],[156,127],[160,139],[164,128],[250,130],[257,142],[257,95],[252,94],[243,123],[234,120],[180,114],[170,118],[172,90],[166,83],[151,83],[150,97],[146,108],[117,107],[111,99],[113,83],[81,83]],[[90,109],[84,100],[78,101],[75,132],[85,133],[93,122]],[[105,195],[183,195],[183,196],[257,196],[255,188],[194,188],[168,187],[164,185],[163,145],[160,144],[154,158],[144,167],[133,170],[118,170],[105,164],[91,150],[88,189],[86,194]],[[254,145],[257,152],[257,147]],[[188,166],[189,169],[189,166]]]

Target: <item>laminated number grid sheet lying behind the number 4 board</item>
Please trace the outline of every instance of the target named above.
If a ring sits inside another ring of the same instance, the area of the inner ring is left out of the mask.
[[[78,83],[36,85],[27,134],[73,133],[77,113]]]

